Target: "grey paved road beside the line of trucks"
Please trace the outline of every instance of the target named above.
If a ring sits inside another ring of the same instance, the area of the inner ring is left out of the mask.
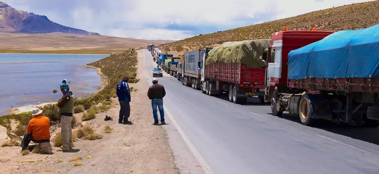
[[[144,50],[147,72],[154,64]],[[268,105],[238,105],[159,78],[164,104],[214,174],[379,174],[379,129],[318,127],[271,115]]]

